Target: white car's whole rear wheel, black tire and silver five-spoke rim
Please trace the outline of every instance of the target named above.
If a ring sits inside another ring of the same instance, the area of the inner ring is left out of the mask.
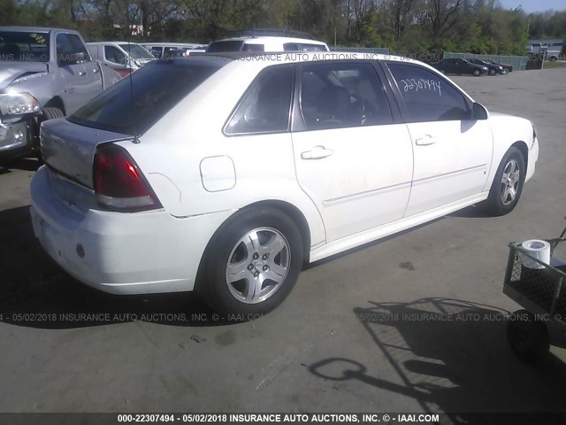
[[[247,320],[287,298],[302,259],[301,232],[287,214],[272,207],[242,211],[213,236],[197,290],[215,311]]]

